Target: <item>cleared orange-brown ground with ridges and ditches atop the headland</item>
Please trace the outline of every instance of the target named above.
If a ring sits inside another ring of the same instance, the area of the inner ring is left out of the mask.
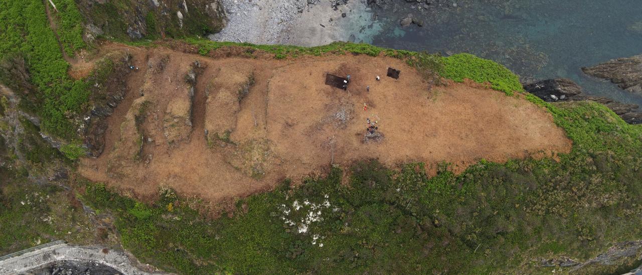
[[[217,202],[369,158],[422,161],[429,172],[446,161],[462,171],[481,159],[571,148],[551,115],[523,97],[467,84],[429,89],[395,58],[127,50],[139,70],[108,118],[105,152],[82,159],[79,170],[143,199],[169,186]],[[385,76],[388,67],[401,70],[398,80]],[[326,73],[351,75],[347,91],[324,85]],[[368,120],[377,130],[366,136]]]

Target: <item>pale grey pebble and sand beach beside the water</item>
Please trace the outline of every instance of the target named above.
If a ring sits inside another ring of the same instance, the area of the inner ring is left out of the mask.
[[[214,41],[320,46],[335,41],[371,43],[382,30],[365,0],[222,0],[227,24]],[[345,17],[343,16],[345,14]]]

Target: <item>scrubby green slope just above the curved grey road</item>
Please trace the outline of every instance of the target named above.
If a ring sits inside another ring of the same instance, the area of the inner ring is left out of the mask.
[[[73,193],[31,183],[27,176],[33,170],[8,165],[7,153],[0,136],[0,255],[53,240],[92,242],[89,220]]]

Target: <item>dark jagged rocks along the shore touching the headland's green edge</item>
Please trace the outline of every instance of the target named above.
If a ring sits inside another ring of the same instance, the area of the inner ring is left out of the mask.
[[[545,102],[582,100],[598,102],[606,105],[629,124],[642,123],[642,110],[639,109],[638,105],[621,103],[601,96],[584,95],[582,94],[582,87],[566,78],[541,80],[533,84],[524,85],[524,89]]]

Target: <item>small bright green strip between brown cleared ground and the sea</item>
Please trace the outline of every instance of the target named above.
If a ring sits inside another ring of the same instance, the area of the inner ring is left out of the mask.
[[[465,78],[478,83],[489,82],[492,89],[512,95],[515,91],[524,91],[519,83],[519,77],[506,67],[468,53],[459,53],[444,57],[444,70],[441,75],[445,78],[464,82]]]

